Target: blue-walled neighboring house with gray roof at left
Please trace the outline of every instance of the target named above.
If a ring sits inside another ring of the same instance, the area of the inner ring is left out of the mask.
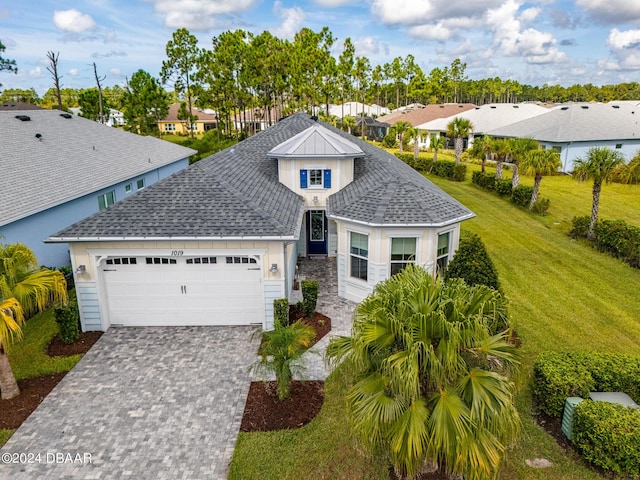
[[[42,265],[69,264],[52,231],[185,168],[194,150],[59,110],[0,111],[0,242],[21,242]]]

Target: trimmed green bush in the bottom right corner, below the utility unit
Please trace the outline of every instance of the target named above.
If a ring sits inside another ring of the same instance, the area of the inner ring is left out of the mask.
[[[580,402],[573,420],[573,443],[594,465],[637,478],[640,410],[607,402]]]

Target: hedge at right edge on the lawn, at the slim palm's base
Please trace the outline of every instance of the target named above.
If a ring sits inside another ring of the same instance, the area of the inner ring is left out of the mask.
[[[575,217],[569,236],[586,238],[590,217]],[[624,220],[599,220],[593,232],[593,246],[601,252],[621,259],[634,268],[640,268],[640,228]]]

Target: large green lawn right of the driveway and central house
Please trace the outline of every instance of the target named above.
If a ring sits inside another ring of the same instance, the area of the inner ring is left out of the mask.
[[[479,168],[471,166],[471,169]],[[510,300],[511,316],[523,345],[518,409],[523,418],[518,443],[508,451],[501,479],[601,479],[579,457],[562,451],[532,417],[532,363],[545,350],[593,350],[640,355],[640,270],[598,253],[566,232],[575,215],[591,211],[591,185],[570,177],[545,177],[541,195],[551,199],[539,217],[511,205],[468,180],[435,184],[476,213],[463,228],[487,246]],[[524,177],[524,184],[532,184]],[[638,187],[606,185],[601,218],[640,225]],[[367,461],[348,437],[341,379],[330,377],[321,415],[298,431],[240,434],[230,479],[388,478],[385,466]],[[338,397],[338,398],[336,398]],[[275,452],[275,453],[274,453]],[[346,455],[346,459],[345,459]],[[544,457],[554,466],[532,469],[525,460]]]

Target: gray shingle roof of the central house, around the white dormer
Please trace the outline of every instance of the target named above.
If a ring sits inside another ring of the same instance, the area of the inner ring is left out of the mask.
[[[297,238],[304,202],[278,181],[277,145],[316,125],[295,114],[234,147],[142,190],[52,239]],[[329,215],[370,224],[440,225],[473,213],[398,158],[322,124],[357,145],[354,181],[329,197]]]

